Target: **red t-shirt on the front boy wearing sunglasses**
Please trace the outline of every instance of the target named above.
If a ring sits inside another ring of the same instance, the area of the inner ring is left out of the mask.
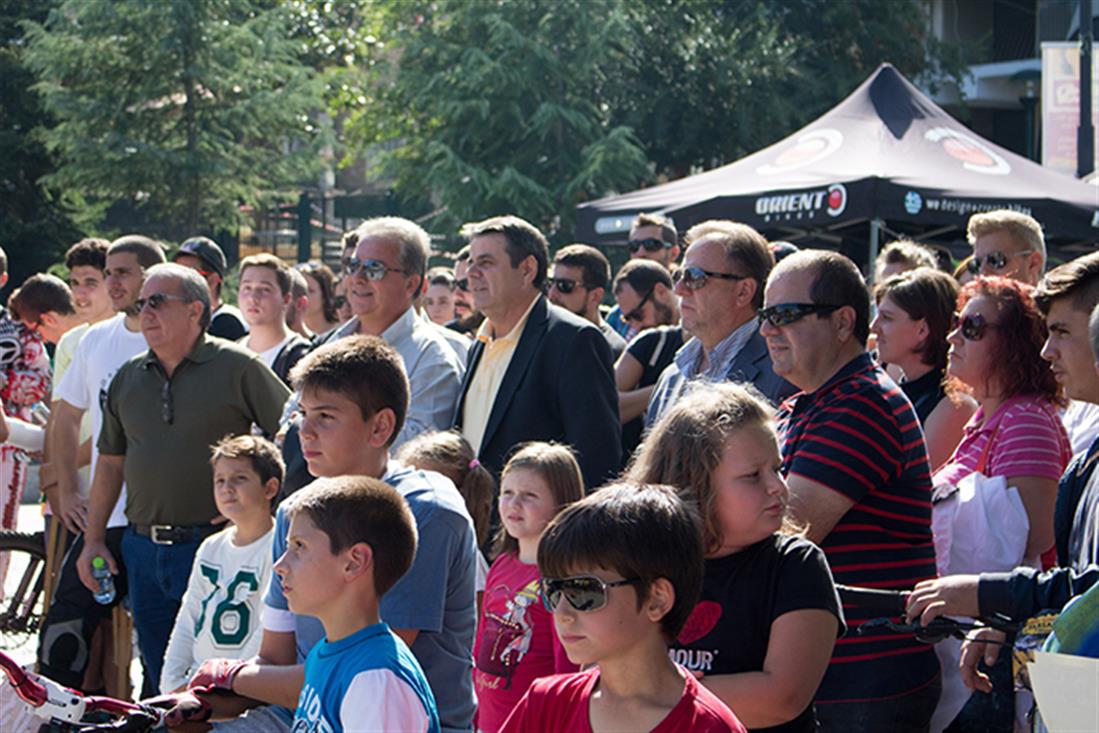
[[[680,670],[687,681],[684,695],[652,733],[745,733],[725,703],[686,669]],[[598,681],[598,667],[535,680],[501,733],[592,733],[588,701]]]

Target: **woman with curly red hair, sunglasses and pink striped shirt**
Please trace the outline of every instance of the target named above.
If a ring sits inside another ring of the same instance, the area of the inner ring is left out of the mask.
[[[947,336],[947,389],[969,395],[978,409],[953,455],[935,469],[933,484],[957,485],[978,473],[1003,477],[1008,487],[1018,490],[1030,525],[1023,564],[1039,567],[1040,556],[1053,551],[1057,481],[1072,449],[1058,415],[1064,397],[1041,356],[1047,331],[1032,293],[1031,286],[1003,277],[978,277],[962,288]],[[942,566],[944,558],[939,560],[940,571],[950,571]],[[981,569],[1003,568],[970,571]],[[1010,656],[1000,655],[1001,662],[990,670],[993,692],[974,692],[954,719],[959,730],[1011,729]],[[952,680],[944,674],[944,701],[951,686],[959,684],[956,675]],[[950,723],[955,710],[944,710],[941,702],[933,726],[944,718],[941,722]]]

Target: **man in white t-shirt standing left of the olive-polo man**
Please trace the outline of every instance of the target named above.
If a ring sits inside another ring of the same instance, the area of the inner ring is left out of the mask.
[[[144,271],[165,262],[160,245],[145,236],[129,235],[115,240],[107,251],[107,288],[114,318],[88,329],[76,347],[57,391],[51,437],[54,441],[57,486],[47,497],[54,515],[70,532],[84,532],[87,521],[87,498],[80,491],[77,475],[80,420],[91,414],[92,435],[102,424],[102,404],[114,373],[130,358],[148,349],[137,321],[136,300],[144,282]],[[98,448],[92,441],[91,465],[96,465]],[[108,544],[113,544],[115,557],[121,557],[125,488],[108,522]],[[88,665],[88,648],[100,620],[110,613],[84,587],[76,570],[76,559],[84,548],[80,536],[65,556],[57,587],[38,646],[38,670],[66,687],[79,689]],[[120,568],[121,569],[121,568]],[[125,595],[125,574],[114,577],[116,598]]]

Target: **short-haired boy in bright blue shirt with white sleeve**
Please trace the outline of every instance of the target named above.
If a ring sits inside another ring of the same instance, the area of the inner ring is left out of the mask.
[[[319,479],[286,503],[287,548],[275,564],[295,613],[325,637],[306,658],[295,733],[439,732],[435,698],[412,652],[379,620],[386,591],[412,565],[412,512],[385,482]]]

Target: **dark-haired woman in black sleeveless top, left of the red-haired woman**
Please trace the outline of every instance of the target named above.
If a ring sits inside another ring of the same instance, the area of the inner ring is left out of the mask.
[[[900,388],[915,409],[934,469],[954,453],[962,429],[977,409],[964,395],[946,395],[944,375],[957,284],[946,273],[917,267],[881,282],[874,292],[878,314],[870,323],[878,358],[898,367]]]

